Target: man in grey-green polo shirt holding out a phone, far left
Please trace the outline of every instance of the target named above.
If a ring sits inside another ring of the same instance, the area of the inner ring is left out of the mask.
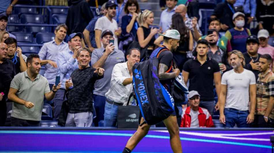
[[[11,126],[39,126],[44,95],[47,100],[55,96],[61,83],[53,85],[50,91],[48,80],[39,74],[41,60],[39,55],[27,58],[27,71],[18,73],[10,84],[8,98],[12,104]]]

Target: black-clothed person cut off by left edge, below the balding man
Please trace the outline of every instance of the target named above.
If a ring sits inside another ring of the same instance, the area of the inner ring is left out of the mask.
[[[11,81],[12,78],[10,77],[10,75],[0,69],[0,126],[5,125],[7,117],[6,97],[9,93]]]

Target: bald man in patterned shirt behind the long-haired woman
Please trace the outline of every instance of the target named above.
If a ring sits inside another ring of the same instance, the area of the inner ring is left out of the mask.
[[[181,14],[185,22],[185,26],[191,30],[194,36],[194,40],[198,41],[198,39],[202,36],[202,32],[197,24],[197,18],[194,17],[192,20],[190,18],[186,18],[185,15],[187,13],[187,7],[183,4],[180,4],[176,7],[175,13]]]

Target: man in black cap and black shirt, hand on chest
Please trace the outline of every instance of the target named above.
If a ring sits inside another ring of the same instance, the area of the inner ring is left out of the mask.
[[[243,53],[245,57],[245,69],[252,71],[255,74],[256,80],[258,80],[259,72],[259,59],[261,54],[258,54],[258,49],[260,47],[259,39],[255,35],[251,35],[246,39],[246,49],[247,52]]]

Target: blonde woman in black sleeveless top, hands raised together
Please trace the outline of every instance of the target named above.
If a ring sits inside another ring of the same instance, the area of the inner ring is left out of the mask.
[[[139,13],[138,20],[141,27],[137,30],[137,41],[140,44],[141,50],[146,48],[145,56],[150,56],[155,49],[154,41],[155,34],[160,32],[157,28],[149,28],[153,24],[154,14],[152,11],[145,9],[142,13]],[[141,59],[144,57],[141,53]]]

